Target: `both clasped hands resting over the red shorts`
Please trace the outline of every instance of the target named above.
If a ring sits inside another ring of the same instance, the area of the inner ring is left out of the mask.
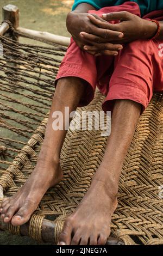
[[[74,41],[82,50],[90,54],[116,55],[124,43],[150,39],[156,34],[157,26],[154,22],[141,19],[128,11],[105,14],[102,19],[97,15],[87,13],[88,10],[93,9],[95,8],[89,4],[79,4],[76,10],[67,15],[66,22]],[[111,20],[121,22],[112,25],[108,22]],[[158,39],[163,38],[162,22],[160,22],[160,27],[161,33]]]

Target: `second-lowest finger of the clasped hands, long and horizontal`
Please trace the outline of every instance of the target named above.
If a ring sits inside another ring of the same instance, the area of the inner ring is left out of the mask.
[[[85,51],[92,51],[92,52],[99,52],[99,51],[105,51],[105,50],[110,50],[110,51],[120,51],[123,49],[122,45],[114,45],[114,44],[96,44],[96,45],[85,45],[84,50]]]

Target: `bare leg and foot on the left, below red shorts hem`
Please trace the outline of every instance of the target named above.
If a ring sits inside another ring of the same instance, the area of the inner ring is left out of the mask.
[[[4,222],[11,221],[13,225],[26,223],[39,205],[43,194],[62,179],[59,157],[67,131],[53,130],[52,114],[54,111],[60,111],[65,116],[65,106],[69,107],[70,113],[76,110],[84,93],[85,83],[76,77],[61,78],[58,81],[36,167],[21,190],[3,200],[0,212]]]

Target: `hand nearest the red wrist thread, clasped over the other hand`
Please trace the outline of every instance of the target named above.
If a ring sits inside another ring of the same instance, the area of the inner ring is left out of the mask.
[[[156,34],[156,31],[158,29],[158,26],[155,22],[152,22],[150,20],[141,19],[139,16],[129,13],[128,11],[120,11],[118,13],[109,13],[104,14],[103,19],[99,20],[93,15],[87,16],[90,21],[98,26],[99,28],[106,29],[106,38],[101,38],[97,35],[93,35],[86,32],[81,32],[80,36],[82,39],[87,40],[90,42],[89,45],[84,46],[84,50],[90,51],[90,52],[98,52],[98,53],[104,53],[108,48],[108,43],[111,41],[113,44],[126,44],[128,42],[132,42],[135,40],[148,40],[153,38],[153,36]],[[116,21],[120,20],[120,23],[117,24],[110,24],[109,21]],[[162,23],[160,22],[160,25]],[[121,31],[123,33],[123,38],[118,38],[118,40],[110,39],[109,38],[109,29],[112,29],[113,31]],[[135,33],[136,31],[136,33]],[[161,35],[159,35],[158,39],[161,39]],[[162,36],[163,38],[163,36]],[[93,42],[96,41],[98,44],[93,44]],[[93,44],[93,45],[91,45]]]

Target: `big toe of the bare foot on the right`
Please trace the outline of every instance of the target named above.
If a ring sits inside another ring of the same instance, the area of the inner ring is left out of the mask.
[[[71,221],[71,219],[67,219],[65,221],[64,227],[61,231],[58,245],[70,245],[71,234],[72,234],[72,221]]]

